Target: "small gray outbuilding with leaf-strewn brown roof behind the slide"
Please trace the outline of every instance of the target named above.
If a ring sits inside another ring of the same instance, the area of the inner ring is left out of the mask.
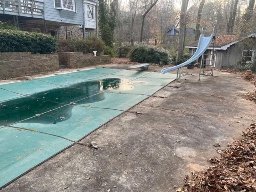
[[[185,46],[193,55],[196,51],[198,41]],[[204,54],[204,59],[212,59],[213,44],[211,44]],[[233,34],[219,35],[215,39],[215,57],[214,61],[209,61],[215,68],[228,68],[236,65],[238,62],[252,62],[256,49],[256,34]],[[208,54],[208,55],[207,55]]]

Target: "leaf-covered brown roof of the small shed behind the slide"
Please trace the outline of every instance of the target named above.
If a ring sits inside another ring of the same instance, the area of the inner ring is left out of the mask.
[[[218,35],[215,36],[215,48],[220,50],[226,50],[228,47],[230,47],[233,44],[236,44],[237,42],[240,42],[246,38],[249,37],[255,37],[255,33],[250,34],[234,34],[234,35]],[[197,48],[198,41],[195,41],[194,43],[186,46],[186,48]],[[209,46],[209,48],[213,48],[213,44]]]

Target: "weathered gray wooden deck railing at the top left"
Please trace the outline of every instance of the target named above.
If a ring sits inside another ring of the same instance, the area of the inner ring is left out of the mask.
[[[44,2],[40,0],[0,0],[0,11],[19,14],[44,15]]]

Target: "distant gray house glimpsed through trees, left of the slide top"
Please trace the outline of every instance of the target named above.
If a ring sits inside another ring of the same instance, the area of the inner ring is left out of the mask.
[[[172,26],[170,29],[166,30],[164,36],[164,44],[175,44],[177,43],[180,30]],[[186,29],[186,37],[194,38],[195,30],[193,28]]]

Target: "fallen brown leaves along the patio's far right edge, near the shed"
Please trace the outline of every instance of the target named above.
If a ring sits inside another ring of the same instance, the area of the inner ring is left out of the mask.
[[[227,70],[219,69],[218,71],[236,74],[237,76],[241,77],[243,80],[247,80],[245,78],[245,73],[242,73],[242,72],[236,72],[236,71],[230,70],[230,69],[227,69]],[[250,81],[256,87],[256,74],[253,74],[252,78],[250,78],[250,80],[247,80],[247,81]],[[253,92],[247,92],[244,94],[244,96],[246,99],[256,103],[256,90],[254,90]]]

